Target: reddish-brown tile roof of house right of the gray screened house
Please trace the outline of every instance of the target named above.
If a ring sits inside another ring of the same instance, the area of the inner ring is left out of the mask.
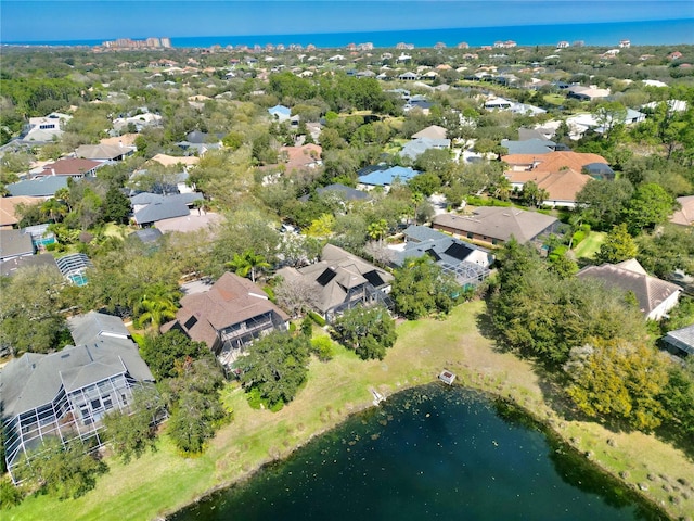
[[[270,302],[257,284],[226,272],[209,291],[181,298],[181,308],[176,314],[176,320],[192,340],[205,342],[211,348],[217,340],[217,331],[268,312],[274,312],[283,320],[290,319],[282,309]],[[187,327],[191,317],[195,317],[196,321]]]

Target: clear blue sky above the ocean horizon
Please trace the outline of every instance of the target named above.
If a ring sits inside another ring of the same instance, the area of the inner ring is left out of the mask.
[[[692,0],[1,0],[0,42],[694,18]]]

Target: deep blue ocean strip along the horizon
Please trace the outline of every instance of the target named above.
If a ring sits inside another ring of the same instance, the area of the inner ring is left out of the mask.
[[[165,36],[165,35],[151,35]],[[587,46],[617,46],[629,39],[634,46],[691,45],[694,43],[694,18],[655,22],[618,22],[601,24],[525,25],[507,27],[468,27],[426,30],[397,30],[372,33],[331,33],[310,35],[256,35],[256,36],[200,36],[171,37],[176,48],[208,48],[215,45],[253,47],[291,43],[319,48],[342,48],[348,43],[372,42],[374,47],[395,47],[399,42],[415,48],[434,47],[444,42],[449,47],[465,41],[472,47],[493,45],[497,40],[514,40],[519,46],[554,46],[561,40],[582,40]],[[97,46],[101,40],[22,41],[12,45]]]

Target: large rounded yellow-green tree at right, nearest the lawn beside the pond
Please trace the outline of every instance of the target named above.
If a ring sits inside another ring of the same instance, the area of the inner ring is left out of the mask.
[[[660,424],[667,363],[643,341],[591,339],[571,350],[564,370],[571,381],[568,395],[588,416],[646,432]]]

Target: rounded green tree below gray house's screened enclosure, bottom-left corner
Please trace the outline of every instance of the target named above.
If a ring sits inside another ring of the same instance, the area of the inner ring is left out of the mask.
[[[61,444],[60,439],[44,441],[33,454],[23,457],[15,478],[59,499],[77,498],[91,491],[97,476],[108,467],[97,455],[86,452],[81,442]]]

